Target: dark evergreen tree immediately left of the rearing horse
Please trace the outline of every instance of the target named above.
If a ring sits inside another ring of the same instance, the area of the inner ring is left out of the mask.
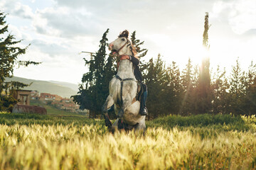
[[[105,102],[108,91],[108,84],[114,73],[112,58],[106,59],[107,33],[100,40],[100,49],[96,55],[92,55],[91,60],[85,60],[85,66],[89,67],[89,72],[82,76],[82,84],[78,91],[78,95],[72,96],[73,101],[80,105],[80,109],[90,110],[90,116],[93,118],[100,115],[102,104]]]

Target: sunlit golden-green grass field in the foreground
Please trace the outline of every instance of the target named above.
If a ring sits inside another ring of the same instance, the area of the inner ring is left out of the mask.
[[[0,169],[256,169],[256,118],[168,116],[111,134],[102,120],[0,114]]]

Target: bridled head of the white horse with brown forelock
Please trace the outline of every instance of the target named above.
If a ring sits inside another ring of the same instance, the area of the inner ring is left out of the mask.
[[[118,55],[131,55],[132,42],[129,40],[128,30],[124,30],[119,34],[118,38],[113,42],[110,42],[109,50],[112,54],[117,53]]]

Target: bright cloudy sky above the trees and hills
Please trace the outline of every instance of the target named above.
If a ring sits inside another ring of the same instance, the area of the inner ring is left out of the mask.
[[[231,70],[239,57],[243,69],[256,62],[255,0],[1,0],[9,31],[20,45],[31,44],[19,60],[43,62],[16,68],[14,76],[27,79],[66,81],[79,84],[87,72],[82,58],[96,52],[103,33],[109,42],[122,30],[144,41],[149,50],[144,60],[160,53],[166,64],[183,69],[191,58],[200,64],[210,56],[217,65]],[[203,25],[209,13],[210,50],[203,50]]]

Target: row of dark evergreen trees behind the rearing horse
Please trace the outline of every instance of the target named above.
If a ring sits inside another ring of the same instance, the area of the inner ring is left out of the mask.
[[[205,16],[203,47],[208,45],[208,13]],[[89,72],[83,74],[78,95],[73,96],[81,109],[90,110],[90,117],[100,115],[105,102],[108,84],[117,74],[117,59],[106,54],[107,33],[100,40],[100,49],[90,60],[85,60]],[[140,69],[149,95],[146,106],[149,119],[159,116],[195,115],[202,113],[252,115],[256,113],[256,64],[253,62],[247,71],[242,71],[239,60],[227,75],[225,69],[218,67],[210,72],[210,59],[203,58],[201,65],[193,65],[188,59],[186,68],[179,69],[176,62],[165,64],[159,54],[156,60],[145,62],[143,57],[147,50],[142,46],[144,41],[136,38],[136,31],[131,40],[140,58]]]

